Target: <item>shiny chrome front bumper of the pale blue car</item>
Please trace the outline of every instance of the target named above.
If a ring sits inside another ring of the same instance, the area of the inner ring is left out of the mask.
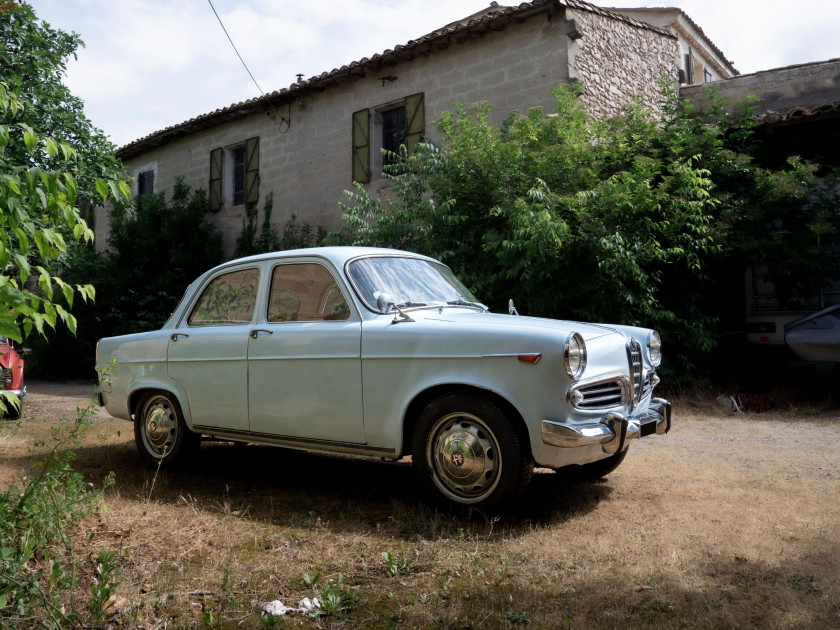
[[[650,407],[638,416],[624,416],[607,412],[600,422],[592,424],[564,424],[554,420],[542,421],[543,443],[562,448],[600,444],[610,455],[624,450],[628,440],[664,435],[671,430],[671,403],[654,398]]]

